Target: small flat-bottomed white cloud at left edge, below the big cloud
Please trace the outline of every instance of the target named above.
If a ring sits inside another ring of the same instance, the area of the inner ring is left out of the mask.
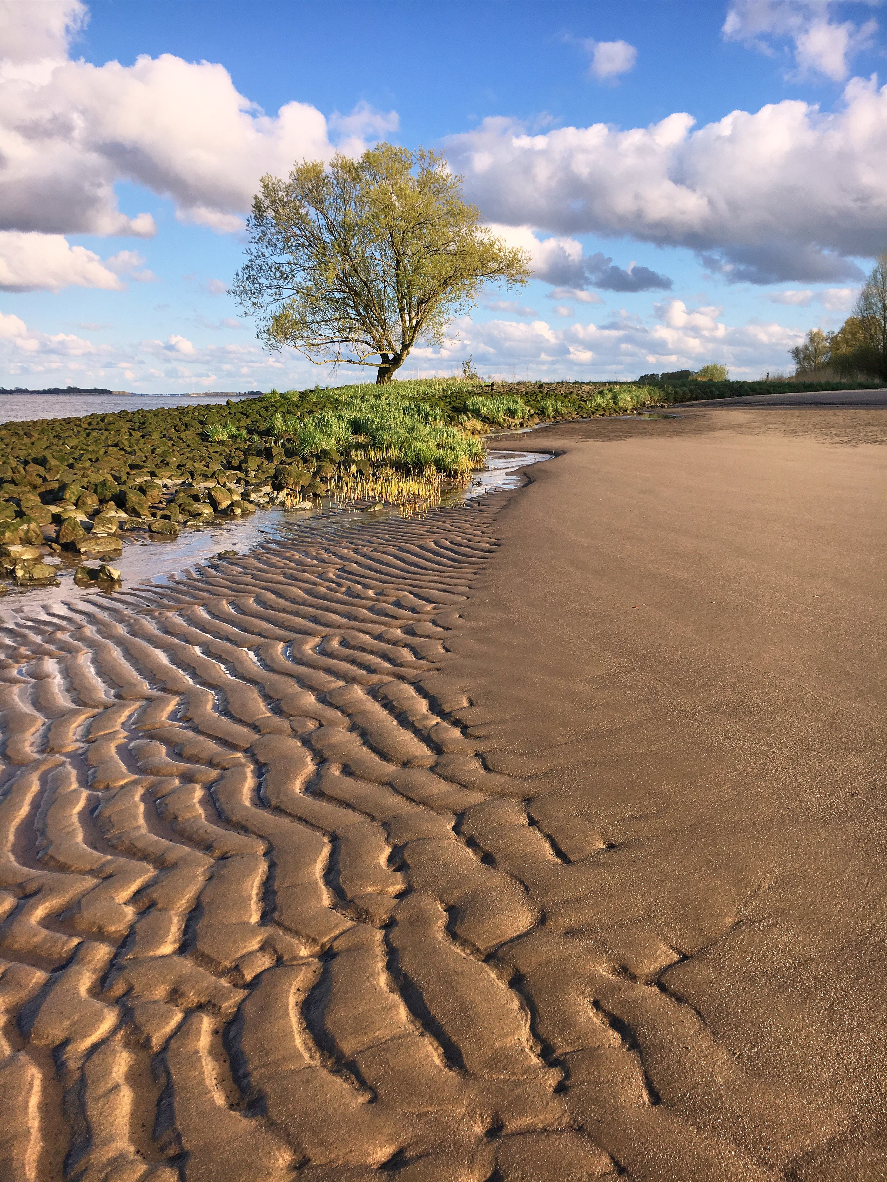
[[[122,291],[118,268],[112,262],[111,259],[103,262],[83,246],[70,246],[60,234],[0,232],[2,291],[58,291],[72,284]]]

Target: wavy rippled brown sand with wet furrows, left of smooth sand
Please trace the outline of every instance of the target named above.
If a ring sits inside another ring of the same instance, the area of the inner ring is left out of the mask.
[[[494,546],[445,509],[6,623],[0,1177],[614,1174],[504,949],[566,838],[432,681]]]

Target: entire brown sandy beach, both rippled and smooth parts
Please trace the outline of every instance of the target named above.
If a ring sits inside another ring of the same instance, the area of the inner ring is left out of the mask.
[[[2,605],[4,1182],[887,1176],[887,413],[533,441]]]

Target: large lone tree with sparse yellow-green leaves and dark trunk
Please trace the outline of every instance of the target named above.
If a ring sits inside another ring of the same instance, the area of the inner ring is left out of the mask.
[[[376,382],[390,382],[485,284],[525,284],[529,255],[480,225],[461,180],[442,155],[391,144],[264,176],[232,288],[259,339],[316,364],[377,366]]]

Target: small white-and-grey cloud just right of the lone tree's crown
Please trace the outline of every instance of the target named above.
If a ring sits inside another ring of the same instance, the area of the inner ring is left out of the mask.
[[[591,255],[583,254],[582,242],[575,238],[556,235],[539,239],[529,226],[493,223],[491,229],[510,246],[529,251],[535,277],[557,287],[581,291],[590,285],[604,291],[646,292],[668,291],[672,286],[667,275],[656,274],[648,267],[639,267],[634,262],[624,268],[614,266],[613,259],[600,251]],[[584,303],[593,303],[591,297]]]

